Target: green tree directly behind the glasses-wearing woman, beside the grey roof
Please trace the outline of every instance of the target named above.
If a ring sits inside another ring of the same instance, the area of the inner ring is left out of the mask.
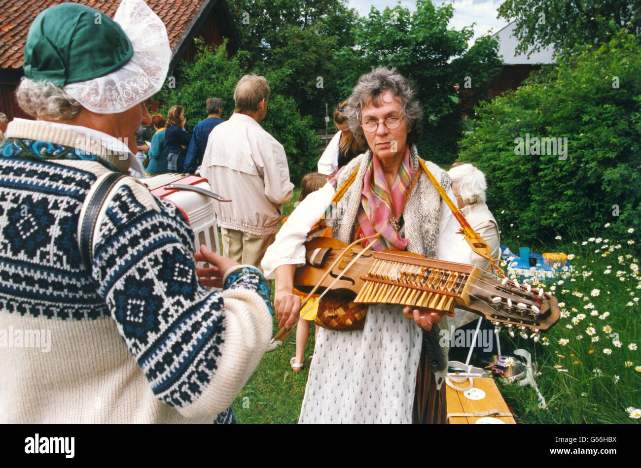
[[[414,81],[426,110],[419,152],[441,163],[456,159],[462,109],[469,104],[464,94],[458,103],[454,86],[469,88],[480,99],[487,96],[486,83],[501,70],[497,42],[486,35],[468,47],[474,31],[471,26],[448,28],[453,14],[451,4],[436,8],[429,0],[418,0],[413,14],[400,5],[383,12],[372,7],[356,33],[369,67],[395,67]]]

